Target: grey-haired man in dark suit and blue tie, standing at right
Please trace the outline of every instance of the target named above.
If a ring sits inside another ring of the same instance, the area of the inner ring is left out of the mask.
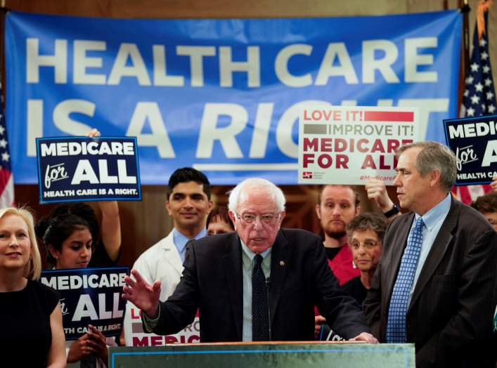
[[[363,303],[373,334],[414,343],[416,367],[495,367],[497,234],[451,196],[456,156],[437,142],[397,151],[403,209]]]

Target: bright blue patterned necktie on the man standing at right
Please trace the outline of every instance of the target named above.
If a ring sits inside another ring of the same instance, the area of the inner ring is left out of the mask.
[[[422,218],[409,234],[407,247],[402,256],[399,274],[390,299],[387,320],[387,343],[406,343],[406,315],[409,292],[413,286],[414,273],[418,265],[422,244]]]

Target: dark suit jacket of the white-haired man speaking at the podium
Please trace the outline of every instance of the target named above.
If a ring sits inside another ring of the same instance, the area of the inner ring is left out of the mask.
[[[174,294],[160,302],[155,334],[173,334],[200,308],[200,341],[242,341],[243,275],[238,235],[215,235],[188,244]],[[304,230],[281,229],[271,250],[271,337],[314,340],[314,305],[340,336],[369,331],[354,300],[340,291],[323,242]]]

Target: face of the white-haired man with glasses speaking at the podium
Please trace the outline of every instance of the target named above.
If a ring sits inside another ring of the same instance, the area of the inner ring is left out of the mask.
[[[246,188],[240,196],[236,212],[230,211],[235,231],[254,253],[260,254],[273,246],[285,211],[278,211],[269,193]]]

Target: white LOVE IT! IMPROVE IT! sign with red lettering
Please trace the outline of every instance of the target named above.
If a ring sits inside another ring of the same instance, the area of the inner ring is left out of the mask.
[[[299,119],[299,183],[392,185],[395,150],[417,140],[415,107],[309,105]]]

